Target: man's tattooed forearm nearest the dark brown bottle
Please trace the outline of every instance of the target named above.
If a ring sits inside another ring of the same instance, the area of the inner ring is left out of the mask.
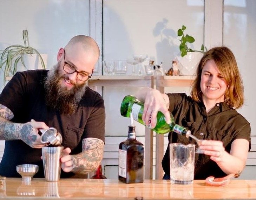
[[[72,156],[74,173],[86,174],[96,170],[103,158],[104,142],[97,138],[85,138],[82,152]]]

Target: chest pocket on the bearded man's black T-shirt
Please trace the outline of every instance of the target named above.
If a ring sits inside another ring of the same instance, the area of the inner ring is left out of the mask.
[[[64,137],[63,146],[70,147],[71,151],[79,144],[81,136],[83,135],[84,129],[67,125],[67,131]]]

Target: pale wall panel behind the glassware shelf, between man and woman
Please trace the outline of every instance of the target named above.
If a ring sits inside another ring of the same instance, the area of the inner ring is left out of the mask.
[[[133,54],[147,54],[149,59],[143,66],[154,60],[163,62],[164,70],[168,70],[179,54],[177,30],[182,25],[187,27],[186,34],[195,37],[192,48],[200,50],[204,42],[203,0],[104,0],[103,59],[126,60]],[[125,95],[138,89],[104,88],[106,112],[111,113],[106,119],[107,136],[126,136],[129,119],[120,117],[118,105]],[[144,126],[137,124],[137,135],[144,135]]]

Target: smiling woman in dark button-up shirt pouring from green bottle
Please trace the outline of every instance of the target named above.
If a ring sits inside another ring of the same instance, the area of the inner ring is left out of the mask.
[[[135,95],[144,103],[144,122],[155,121],[151,110],[172,113],[175,123],[188,127],[202,142],[200,156],[195,157],[195,179],[216,178],[242,171],[250,150],[250,124],[234,108],[243,104],[243,84],[236,60],[227,47],[207,51],[199,62],[191,96],[160,94],[143,88]],[[165,102],[164,100],[165,99]],[[169,133],[169,144],[198,144]],[[170,179],[169,146],[162,160],[164,179]]]

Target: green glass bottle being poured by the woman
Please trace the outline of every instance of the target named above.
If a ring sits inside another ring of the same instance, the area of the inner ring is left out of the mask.
[[[143,110],[144,110],[144,103],[139,101],[138,99],[136,99],[136,97],[132,95],[125,96],[121,103],[120,112],[122,116],[130,117],[132,113],[134,120],[145,125],[145,123],[142,120]],[[167,124],[165,121],[164,114],[159,111],[157,113],[156,126],[152,130],[159,134],[165,134],[173,131],[180,135],[189,137],[191,135],[191,131],[189,131],[188,129],[182,126],[179,126],[178,124],[175,124],[173,115],[171,113],[170,113],[170,116],[171,116],[171,123]]]

